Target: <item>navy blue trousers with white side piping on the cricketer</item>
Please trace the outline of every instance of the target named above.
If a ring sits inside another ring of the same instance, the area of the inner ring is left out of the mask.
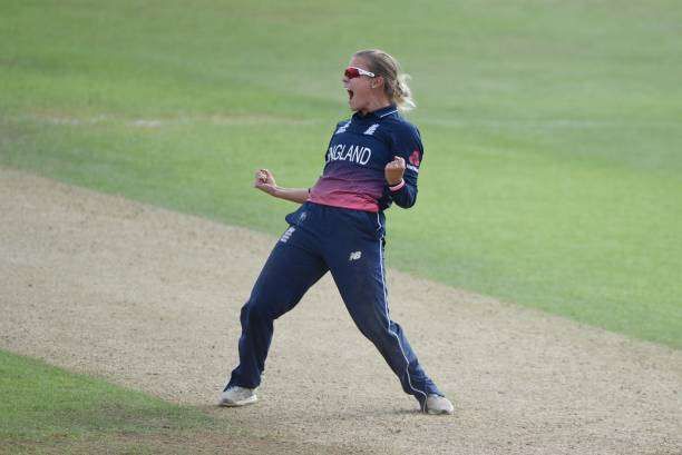
[[[261,384],[273,322],[292,309],[327,271],[353,322],[383,356],[402,389],[423,408],[442,395],[427,376],[400,325],[390,319],[383,265],[383,214],[305,202],[286,217],[289,229],[273,248],[242,307],[240,365],[225,388]]]

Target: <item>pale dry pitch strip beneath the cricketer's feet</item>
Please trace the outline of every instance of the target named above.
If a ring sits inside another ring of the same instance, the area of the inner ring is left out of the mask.
[[[276,239],[8,169],[0,214],[0,348],[199,406],[270,452],[682,452],[681,352],[394,270],[392,317],[455,416],[417,412],[329,278],[277,320],[261,402],[217,408]]]

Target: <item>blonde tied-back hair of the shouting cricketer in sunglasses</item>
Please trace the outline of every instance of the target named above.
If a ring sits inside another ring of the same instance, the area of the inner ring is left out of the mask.
[[[398,109],[411,110],[417,107],[408,87],[410,76],[400,71],[398,60],[380,49],[359,50],[353,57],[364,59],[369,70],[383,78],[383,92]]]

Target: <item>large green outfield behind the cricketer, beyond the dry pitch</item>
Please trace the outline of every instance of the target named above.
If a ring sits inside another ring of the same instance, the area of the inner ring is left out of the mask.
[[[253,170],[313,184],[381,47],[426,146],[390,265],[682,347],[678,1],[193,4],[3,2],[0,164],[279,234]]]

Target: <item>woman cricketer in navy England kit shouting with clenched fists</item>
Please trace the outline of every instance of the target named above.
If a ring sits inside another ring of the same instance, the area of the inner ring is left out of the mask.
[[[274,319],[331,271],[353,322],[377,346],[402,389],[425,413],[452,414],[452,404],[427,376],[388,307],[383,211],[393,202],[402,208],[415,205],[423,156],[419,131],[399,113],[415,107],[406,79],[388,53],[355,52],[343,75],[354,113],[337,125],[315,185],[282,188],[270,170],[256,172],[256,188],[301,207],[286,216],[290,227],[242,308],[240,365],[220,405],[256,402]]]

